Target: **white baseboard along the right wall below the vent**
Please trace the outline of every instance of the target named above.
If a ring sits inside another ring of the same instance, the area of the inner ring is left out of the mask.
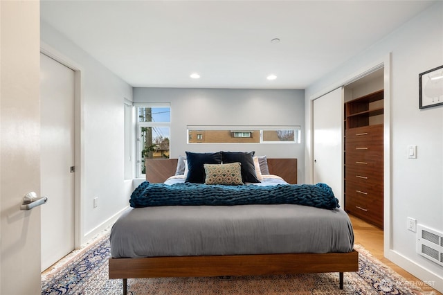
[[[396,265],[401,267],[402,269],[408,271],[413,276],[419,278],[427,285],[430,285],[434,289],[443,293],[443,277],[438,276],[432,271],[422,267],[421,265],[417,265],[416,262],[413,262],[409,258],[401,255],[397,251],[390,250],[388,255],[385,255],[390,261],[394,262]],[[413,284],[413,282],[410,282]],[[414,283],[416,287],[422,287]]]

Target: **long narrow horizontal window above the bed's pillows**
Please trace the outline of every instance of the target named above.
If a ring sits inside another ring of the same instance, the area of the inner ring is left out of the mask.
[[[188,143],[300,143],[300,126],[188,126]]]

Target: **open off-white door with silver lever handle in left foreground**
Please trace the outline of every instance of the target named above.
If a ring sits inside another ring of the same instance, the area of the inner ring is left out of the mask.
[[[39,2],[0,1],[0,294],[40,294]]]

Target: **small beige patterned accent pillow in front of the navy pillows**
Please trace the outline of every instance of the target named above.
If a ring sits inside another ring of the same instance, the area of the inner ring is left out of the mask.
[[[204,164],[205,184],[242,185],[242,164]]]

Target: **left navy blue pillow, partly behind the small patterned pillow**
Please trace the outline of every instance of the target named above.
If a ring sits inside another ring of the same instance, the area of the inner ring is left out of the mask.
[[[221,152],[186,152],[188,159],[188,176],[186,182],[204,184],[205,168],[204,164],[221,164]]]

